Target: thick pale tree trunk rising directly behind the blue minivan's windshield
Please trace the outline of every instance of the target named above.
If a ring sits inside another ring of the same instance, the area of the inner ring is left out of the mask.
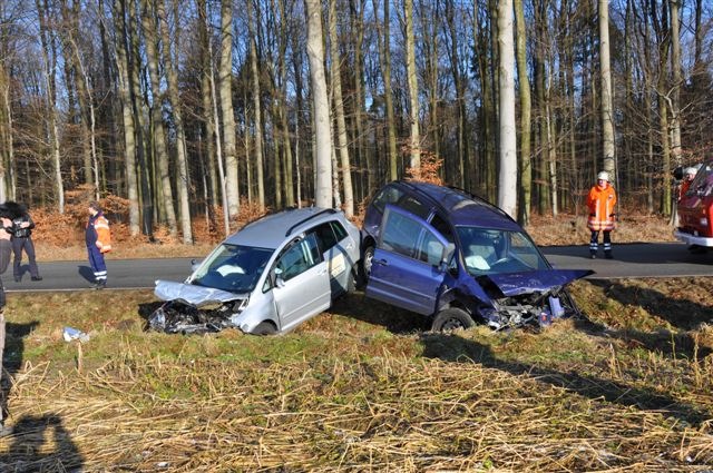
[[[517,217],[517,146],[515,128],[515,47],[512,0],[498,2],[500,173],[498,207]]]

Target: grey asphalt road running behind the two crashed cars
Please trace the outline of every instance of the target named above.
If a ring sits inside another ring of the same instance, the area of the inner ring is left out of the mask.
[[[691,254],[681,243],[614,245],[615,259],[589,259],[588,245],[543,247],[549,262],[559,269],[594,269],[589,278],[713,276],[713,250]],[[153,288],[156,279],[183,280],[191,274],[192,258],[110,259],[108,288]],[[12,279],[12,267],[2,275],[8,292],[90,289],[88,262],[41,263],[43,279],[31,282],[27,258],[20,283]]]

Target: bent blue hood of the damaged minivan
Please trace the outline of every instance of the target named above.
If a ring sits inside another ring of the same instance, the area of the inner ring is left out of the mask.
[[[573,280],[594,274],[590,269],[543,269],[522,273],[489,274],[480,276],[495,284],[507,297],[543,293],[565,286]]]

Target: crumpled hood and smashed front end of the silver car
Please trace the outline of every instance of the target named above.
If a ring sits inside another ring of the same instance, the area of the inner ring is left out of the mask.
[[[183,283],[157,280],[154,294],[164,305],[148,318],[148,326],[168,334],[203,334],[237,328],[235,316],[247,296]]]

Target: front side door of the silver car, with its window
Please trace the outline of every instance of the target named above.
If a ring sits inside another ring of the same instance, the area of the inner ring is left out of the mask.
[[[273,297],[281,331],[329,308],[330,277],[314,234],[293,242],[275,264]]]

